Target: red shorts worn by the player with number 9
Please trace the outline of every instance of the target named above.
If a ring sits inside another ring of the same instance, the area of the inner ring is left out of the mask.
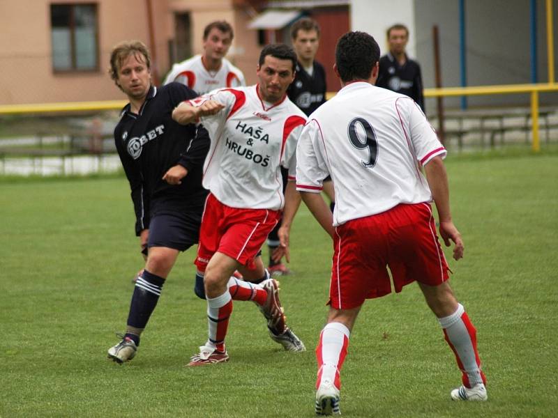
[[[437,286],[448,279],[428,203],[400,204],[353,219],[336,229],[329,303],[335,309],[361,306],[365,299],[395,292],[413,281]]]

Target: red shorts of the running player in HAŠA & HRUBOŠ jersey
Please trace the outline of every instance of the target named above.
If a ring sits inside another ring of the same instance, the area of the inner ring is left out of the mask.
[[[199,230],[195,265],[204,272],[213,254],[220,252],[254,268],[259,249],[280,219],[280,210],[231,208],[210,193]]]

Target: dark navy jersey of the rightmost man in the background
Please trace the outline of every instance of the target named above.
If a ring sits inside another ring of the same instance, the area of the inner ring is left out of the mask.
[[[376,86],[387,88],[395,93],[408,95],[425,111],[423,97],[423,79],[421,66],[409,59],[403,65],[391,54],[379,59],[379,74]]]

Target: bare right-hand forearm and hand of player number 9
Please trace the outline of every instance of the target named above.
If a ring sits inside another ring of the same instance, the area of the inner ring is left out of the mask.
[[[448,175],[442,157],[432,158],[424,166],[424,171],[426,180],[428,180],[428,186],[430,186],[430,191],[432,192],[432,199],[434,199],[438,211],[440,236],[444,240],[446,247],[449,247],[451,242],[455,244],[453,247],[453,258],[459,260],[463,257],[465,246],[463,245],[461,234],[451,219]]]

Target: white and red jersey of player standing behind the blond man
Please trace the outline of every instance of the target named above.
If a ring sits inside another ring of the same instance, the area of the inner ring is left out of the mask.
[[[179,82],[186,84],[197,94],[202,95],[223,87],[245,86],[242,71],[230,61],[223,59],[218,71],[209,71],[202,63],[202,56],[195,55],[186,61],[172,65],[164,84]]]

